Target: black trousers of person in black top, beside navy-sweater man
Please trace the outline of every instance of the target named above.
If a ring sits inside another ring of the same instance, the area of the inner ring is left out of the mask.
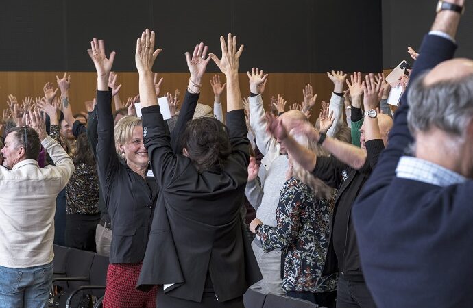
[[[339,274],[337,286],[337,308],[376,308],[373,296],[366,283],[349,281]]]

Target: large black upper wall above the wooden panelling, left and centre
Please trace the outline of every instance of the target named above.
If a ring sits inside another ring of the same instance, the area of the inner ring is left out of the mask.
[[[185,72],[184,52],[201,41],[220,55],[229,31],[245,44],[241,71],[380,71],[380,25],[378,0],[3,1],[0,70],[93,70],[86,49],[96,37],[117,51],[114,70],[135,71],[136,38],[149,27],[164,49],[161,72]]]

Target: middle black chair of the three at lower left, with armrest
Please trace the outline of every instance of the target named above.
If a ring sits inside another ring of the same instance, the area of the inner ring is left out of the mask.
[[[55,285],[66,282],[63,287],[59,302],[55,300],[50,307],[65,307],[67,294],[72,290],[84,285],[84,281],[88,283],[90,279],[90,267],[95,257],[92,251],[81,251],[79,249],[70,248],[69,255],[66,260],[66,276],[53,277],[53,288]],[[58,304],[58,305],[57,305]]]

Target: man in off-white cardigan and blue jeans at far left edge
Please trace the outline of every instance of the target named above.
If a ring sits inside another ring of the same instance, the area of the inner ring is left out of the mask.
[[[29,112],[27,123],[14,127],[1,149],[0,307],[48,307],[56,196],[74,172],[38,110]],[[56,166],[39,168],[41,145]]]

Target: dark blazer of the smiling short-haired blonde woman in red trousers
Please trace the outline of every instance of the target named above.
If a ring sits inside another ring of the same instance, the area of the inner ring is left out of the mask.
[[[179,136],[191,120],[199,94],[186,93],[178,122],[171,134],[173,149],[179,153]],[[112,222],[110,263],[138,263],[143,260],[158,198],[158,185],[152,172],[146,181],[115,152],[112,91],[97,91],[97,170],[101,191]],[[167,124],[165,130],[168,131]],[[94,147],[94,146],[93,146]],[[151,170],[149,170],[151,171]]]

